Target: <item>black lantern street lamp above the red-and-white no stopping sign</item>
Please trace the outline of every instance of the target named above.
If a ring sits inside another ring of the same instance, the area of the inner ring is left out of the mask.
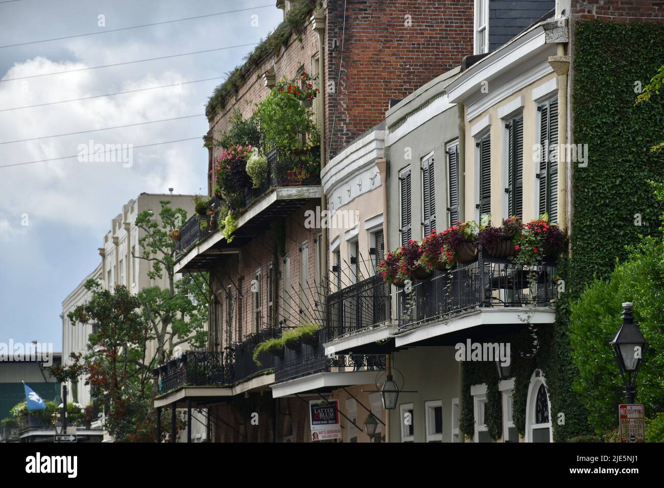
[[[609,343],[618,361],[623,393],[629,404],[634,403],[636,376],[639,374],[643,351],[647,345],[639,327],[634,323],[634,317],[631,315],[632,306],[632,303],[623,303],[623,325]]]

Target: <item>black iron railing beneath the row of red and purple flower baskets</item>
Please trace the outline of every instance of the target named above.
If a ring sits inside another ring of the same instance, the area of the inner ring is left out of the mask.
[[[397,293],[398,327],[416,327],[478,307],[546,307],[556,297],[554,262],[521,266],[483,252],[475,262],[432,272]]]

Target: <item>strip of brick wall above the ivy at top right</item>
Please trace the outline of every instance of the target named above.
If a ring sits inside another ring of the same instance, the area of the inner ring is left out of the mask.
[[[600,19],[616,22],[661,22],[664,19],[664,1],[572,0],[572,15],[576,19]]]

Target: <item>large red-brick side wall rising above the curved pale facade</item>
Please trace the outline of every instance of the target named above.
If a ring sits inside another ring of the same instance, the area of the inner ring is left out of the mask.
[[[473,53],[473,0],[329,0],[326,34],[327,81],[338,84],[325,108],[331,159],[384,119],[390,99]]]

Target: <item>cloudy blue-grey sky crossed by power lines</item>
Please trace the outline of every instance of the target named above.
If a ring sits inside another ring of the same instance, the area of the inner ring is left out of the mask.
[[[100,263],[98,248],[122,205],[169,187],[207,192],[205,104],[254,46],[172,56],[260,41],[282,19],[275,4],[0,1],[0,343],[39,341],[62,351],[62,301]],[[163,23],[199,16],[207,17]],[[124,29],[154,23],[163,24]],[[62,37],[69,39],[35,42]],[[171,57],[126,64],[162,56]],[[118,63],[125,64],[86,69]],[[218,79],[186,84],[207,78]],[[51,104],[161,85],[175,86]],[[50,105],[7,110],[38,104]],[[62,135],[91,129],[106,130]],[[51,135],[59,137],[44,137]],[[133,159],[17,165],[78,155],[90,140],[131,144]]]

